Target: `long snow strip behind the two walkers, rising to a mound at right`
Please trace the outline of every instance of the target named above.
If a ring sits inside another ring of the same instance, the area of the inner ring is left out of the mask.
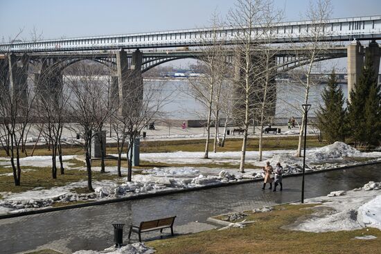
[[[247,151],[246,163],[256,166],[264,166],[265,161],[270,161],[272,165],[280,162],[283,169],[290,170],[290,173],[300,172],[303,165],[303,158],[295,156],[296,150],[272,150],[263,151],[263,161],[258,161],[257,151]],[[203,152],[168,152],[141,154],[141,160],[154,163],[177,163],[177,164],[203,164],[205,159]],[[209,154],[210,163],[240,163],[241,152],[218,152]],[[335,142],[325,147],[312,148],[306,150],[307,170],[324,170],[326,168],[340,167],[351,164],[351,161],[340,161],[344,157],[362,157],[381,159],[381,152],[360,152],[357,149],[342,142]],[[326,163],[326,164],[325,164]],[[285,168],[286,167],[286,168]]]

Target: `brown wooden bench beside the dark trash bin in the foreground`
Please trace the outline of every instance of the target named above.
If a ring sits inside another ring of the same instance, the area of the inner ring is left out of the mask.
[[[131,225],[130,232],[128,233],[128,239],[131,237],[131,233],[137,233],[139,235],[139,242],[141,242],[141,233],[150,232],[154,230],[160,230],[163,233],[164,228],[170,228],[170,233],[173,235],[173,223],[175,217],[168,217],[163,219],[154,219],[152,221],[141,221],[139,226]]]

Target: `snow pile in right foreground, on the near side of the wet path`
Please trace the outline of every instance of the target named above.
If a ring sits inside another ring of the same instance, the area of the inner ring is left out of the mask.
[[[348,192],[331,192],[327,197],[308,199],[305,203],[322,203],[317,212],[292,230],[327,232],[356,230],[365,227],[381,230],[381,182],[369,182]]]

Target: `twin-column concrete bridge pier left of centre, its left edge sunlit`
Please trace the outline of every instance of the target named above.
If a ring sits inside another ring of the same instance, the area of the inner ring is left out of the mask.
[[[130,64],[125,51],[121,50],[116,53],[119,115],[139,114],[143,99],[142,60],[143,54],[139,49],[132,53]]]

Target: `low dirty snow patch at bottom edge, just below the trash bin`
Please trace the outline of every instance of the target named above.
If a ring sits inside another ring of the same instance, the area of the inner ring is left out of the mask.
[[[137,242],[135,244],[128,244],[123,246],[122,248],[107,248],[105,251],[76,251],[73,254],[152,254],[154,253],[154,249],[141,242]]]

